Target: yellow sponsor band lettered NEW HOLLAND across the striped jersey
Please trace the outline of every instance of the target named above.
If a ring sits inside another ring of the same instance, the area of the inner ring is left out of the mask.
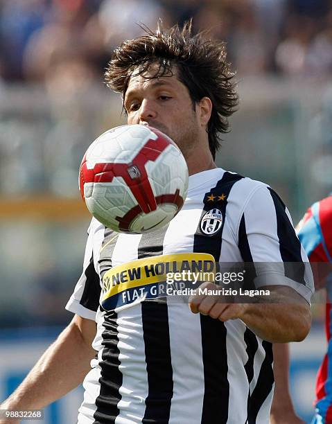
[[[202,253],[169,254],[118,265],[103,276],[103,300],[131,288],[164,282],[168,274],[181,272],[201,272],[208,276],[208,281],[213,281],[216,274],[214,258]]]

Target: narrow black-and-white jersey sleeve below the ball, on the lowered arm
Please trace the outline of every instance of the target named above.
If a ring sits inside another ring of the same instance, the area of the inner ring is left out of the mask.
[[[83,261],[83,271],[69,298],[66,309],[87,319],[96,319],[101,296],[101,284],[94,265],[94,222],[88,229],[87,245]]]

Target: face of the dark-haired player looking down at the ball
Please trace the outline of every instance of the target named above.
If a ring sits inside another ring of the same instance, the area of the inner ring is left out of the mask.
[[[189,91],[175,72],[173,76],[153,77],[152,65],[142,76],[130,78],[124,100],[128,124],[157,128],[175,141],[184,157],[189,157],[198,143],[200,129]]]

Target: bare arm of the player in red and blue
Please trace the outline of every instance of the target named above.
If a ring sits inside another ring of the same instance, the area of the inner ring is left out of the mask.
[[[304,424],[296,414],[290,398],[288,343],[273,345],[274,397],[270,424]]]

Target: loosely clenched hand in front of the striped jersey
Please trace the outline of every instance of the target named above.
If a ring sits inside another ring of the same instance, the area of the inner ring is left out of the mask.
[[[225,303],[227,302],[225,296],[200,293],[204,288],[218,290],[218,286],[213,283],[202,283],[200,291],[196,290],[196,294],[189,298],[189,308],[194,314],[200,312],[202,315],[209,315],[213,319],[228,321],[229,319],[241,318],[245,313],[247,308],[245,303]]]

